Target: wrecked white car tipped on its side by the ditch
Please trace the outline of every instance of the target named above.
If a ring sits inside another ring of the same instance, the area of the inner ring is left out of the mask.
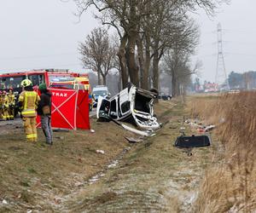
[[[142,130],[156,130],[160,128],[153,110],[153,102],[156,97],[154,92],[131,85],[110,99],[100,96],[96,116],[100,120],[136,124]]]

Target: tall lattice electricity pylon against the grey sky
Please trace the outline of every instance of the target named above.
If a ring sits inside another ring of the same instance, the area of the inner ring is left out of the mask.
[[[218,26],[217,26],[217,37],[218,37],[218,41],[217,41],[218,56],[217,56],[215,83],[218,84],[218,89],[224,88],[224,89],[230,90],[230,84],[227,78],[227,73],[226,73],[225,63],[224,63],[222,28],[220,23],[218,23]]]

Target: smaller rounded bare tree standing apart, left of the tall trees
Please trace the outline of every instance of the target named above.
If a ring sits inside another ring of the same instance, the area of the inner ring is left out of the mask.
[[[108,72],[114,66],[114,57],[116,50],[114,49],[108,32],[103,28],[94,29],[85,39],[84,43],[79,43],[79,52],[82,55],[84,68],[89,68],[98,75],[98,84],[106,85]]]

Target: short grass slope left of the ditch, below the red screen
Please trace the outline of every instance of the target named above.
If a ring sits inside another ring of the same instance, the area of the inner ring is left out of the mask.
[[[59,198],[79,190],[129,146],[124,135],[132,135],[116,124],[91,119],[91,126],[96,133],[55,132],[51,147],[45,144],[42,130],[38,143],[32,144],[25,141],[22,128],[7,126],[9,134],[0,141],[0,212],[54,212]],[[96,153],[97,149],[105,154]],[[2,204],[3,199],[8,204]]]

